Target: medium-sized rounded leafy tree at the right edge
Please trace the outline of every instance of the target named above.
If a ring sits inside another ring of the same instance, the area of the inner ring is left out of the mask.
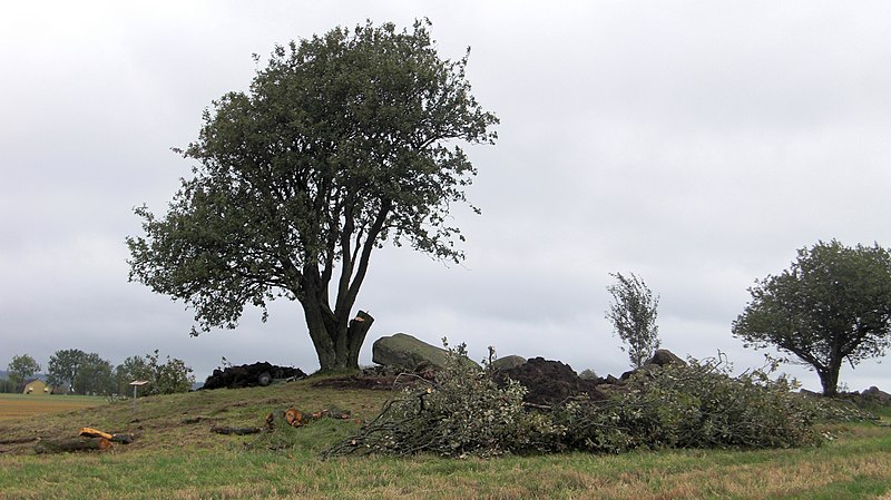
[[[811,365],[824,395],[836,393],[845,360],[853,367],[883,355],[891,342],[891,254],[878,244],[819,242],[750,293],[733,334],[746,346],[776,346]]]

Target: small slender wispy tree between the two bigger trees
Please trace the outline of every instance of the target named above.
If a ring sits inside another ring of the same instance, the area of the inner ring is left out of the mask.
[[[630,277],[621,273],[610,273],[616,283],[607,286],[613,296],[606,318],[613,323],[615,333],[627,345],[628,357],[635,367],[640,367],[644,362],[659,349],[659,327],[656,324],[659,297],[643,280],[630,273]],[[623,346],[623,351],[626,347]]]

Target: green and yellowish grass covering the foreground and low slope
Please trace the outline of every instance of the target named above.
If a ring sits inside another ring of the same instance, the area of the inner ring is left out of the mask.
[[[260,427],[267,412],[331,406],[369,419],[389,394],[312,388],[307,381],[107,403],[0,421],[0,499],[891,499],[891,428],[828,428],[820,448],[653,451],[623,455],[449,460],[344,458],[319,452],[353,432],[322,420],[272,434],[212,434]],[[891,414],[885,414],[884,423]],[[100,453],[36,455],[33,437],[81,427],[135,432]]]

